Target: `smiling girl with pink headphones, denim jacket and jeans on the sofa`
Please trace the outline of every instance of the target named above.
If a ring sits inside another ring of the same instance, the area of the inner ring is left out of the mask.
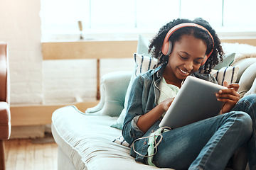
[[[149,48],[160,66],[134,80],[122,130],[133,143],[136,161],[161,168],[224,169],[238,148],[247,145],[250,169],[256,169],[256,96],[238,102],[238,84],[225,82],[228,89],[216,94],[225,103],[220,115],[174,130],[159,128],[188,75],[216,82],[209,73],[223,50],[209,23],[202,18],[174,20],[159,30]],[[161,137],[152,143],[151,135]]]

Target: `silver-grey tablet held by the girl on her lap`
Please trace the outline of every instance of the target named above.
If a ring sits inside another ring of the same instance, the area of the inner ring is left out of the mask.
[[[218,115],[223,102],[215,96],[225,86],[188,76],[166,111],[159,127],[172,129]]]

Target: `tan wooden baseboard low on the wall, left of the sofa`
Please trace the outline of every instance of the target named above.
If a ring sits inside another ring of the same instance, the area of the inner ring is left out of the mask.
[[[96,106],[97,103],[99,103],[99,101],[86,101],[61,105],[11,105],[11,126],[48,125],[51,123],[53,112],[58,108],[74,105],[80,111],[85,112],[87,108],[92,108]]]

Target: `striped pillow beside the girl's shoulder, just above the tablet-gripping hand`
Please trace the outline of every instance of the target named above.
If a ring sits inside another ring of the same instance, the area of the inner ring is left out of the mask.
[[[218,84],[223,86],[224,81],[228,81],[228,84],[233,84],[238,78],[239,67],[223,67],[219,70],[213,70],[211,74],[218,81]]]

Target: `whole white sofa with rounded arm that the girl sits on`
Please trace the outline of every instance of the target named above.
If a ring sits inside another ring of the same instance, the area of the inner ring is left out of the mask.
[[[255,93],[256,55],[235,58],[232,66],[238,65],[236,82],[240,84],[240,95]],[[131,76],[132,72],[116,72],[102,77],[100,103],[87,109],[86,113],[75,106],[59,108],[53,113],[52,132],[58,144],[58,169],[158,169],[135,162],[129,155],[129,147],[124,143],[117,144],[119,140],[113,142],[121,135],[121,130],[110,125],[117,123],[124,110]]]

